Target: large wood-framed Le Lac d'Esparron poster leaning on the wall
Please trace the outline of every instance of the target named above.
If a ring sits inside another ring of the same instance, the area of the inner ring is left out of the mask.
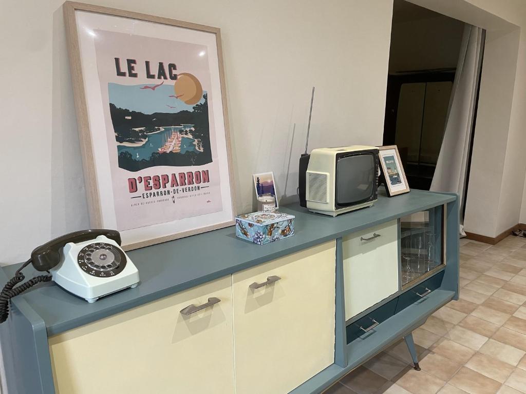
[[[92,227],[137,247],[235,223],[218,28],[66,2]]]

